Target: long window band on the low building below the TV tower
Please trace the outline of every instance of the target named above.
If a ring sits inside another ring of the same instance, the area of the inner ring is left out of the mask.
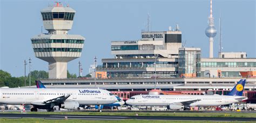
[[[201,62],[201,67],[256,67],[256,62]]]

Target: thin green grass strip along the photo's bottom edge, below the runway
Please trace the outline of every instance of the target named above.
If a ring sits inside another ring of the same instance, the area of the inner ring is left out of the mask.
[[[35,123],[41,123],[41,122],[47,122],[47,123],[51,123],[51,122],[61,122],[61,123],[65,123],[65,122],[87,122],[87,123],[110,123],[110,122],[118,122],[118,123],[166,123],[166,122],[174,122],[174,123],[193,123],[193,122],[199,122],[199,123],[203,123],[203,122],[214,122],[216,123],[217,121],[148,121],[148,120],[118,120],[118,121],[110,121],[110,120],[48,120],[48,119],[31,119],[31,118],[22,118],[22,119],[5,119],[5,118],[0,118],[0,122],[24,122],[24,123],[28,123],[28,122],[35,122]],[[235,122],[235,121],[233,121]],[[224,123],[224,122],[221,122]]]

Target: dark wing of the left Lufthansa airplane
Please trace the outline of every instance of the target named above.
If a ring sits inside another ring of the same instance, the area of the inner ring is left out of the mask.
[[[63,95],[57,98],[49,99],[49,100],[36,100],[35,102],[31,102],[32,105],[45,105],[50,103],[63,103],[66,99],[68,99],[70,95]]]

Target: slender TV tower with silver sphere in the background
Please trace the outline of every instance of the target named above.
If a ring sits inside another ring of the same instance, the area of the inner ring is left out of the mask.
[[[209,57],[213,58],[213,38],[216,36],[217,30],[214,27],[214,18],[212,17],[212,0],[210,17],[208,17],[208,27],[205,30],[205,34],[209,37]]]

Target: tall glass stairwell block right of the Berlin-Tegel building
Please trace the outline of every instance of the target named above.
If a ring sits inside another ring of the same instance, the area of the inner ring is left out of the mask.
[[[179,76],[185,77],[201,76],[201,51],[200,50],[179,50]]]

